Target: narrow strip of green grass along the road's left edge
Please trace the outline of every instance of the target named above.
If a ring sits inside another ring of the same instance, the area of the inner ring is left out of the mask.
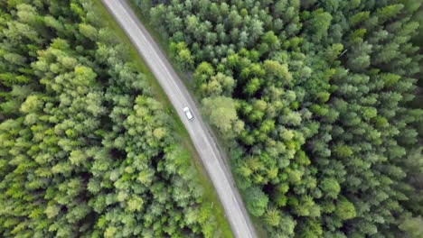
[[[101,14],[101,18],[107,21],[108,27],[110,27],[114,32],[116,32],[119,40],[123,42],[125,45],[129,46],[129,59],[135,63],[136,69],[138,69],[140,72],[146,75],[146,78],[152,88],[153,95],[155,96],[155,99],[159,101],[162,105],[164,105],[165,110],[171,115],[172,124],[174,127],[174,130],[176,132],[176,139],[179,139],[180,142],[183,143],[183,147],[189,151],[191,154],[191,157],[193,158],[193,165],[198,171],[198,174],[200,175],[199,181],[202,184],[202,187],[204,188],[204,198],[206,203],[213,204],[214,209],[212,209],[212,214],[214,215],[216,222],[218,226],[221,228],[221,233],[223,234],[223,237],[233,237],[232,232],[230,230],[230,224],[228,220],[225,218],[225,214],[223,211],[223,208],[221,206],[221,203],[219,199],[217,198],[214,188],[211,184],[210,178],[208,177],[206,171],[202,167],[202,162],[200,160],[200,157],[195,151],[195,148],[193,146],[193,142],[191,141],[191,138],[186,131],[185,127],[183,126],[183,123],[181,122],[180,118],[176,114],[176,111],[174,110],[174,106],[170,103],[169,99],[164,93],[164,90],[162,87],[160,87],[158,81],[155,79],[153,73],[148,69],[146,66],[146,63],[144,59],[141,58],[141,56],[138,54],[136,49],[132,46],[132,42],[127,37],[127,34],[120,28],[118,23],[115,21],[115,19],[108,13],[108,10],[104,5],[102,5],[100,0],[94,0],[93,4],[96,6],[96,8],[99,11],[99,14]],[[139,13],[136,13],[139,15]],[[147,26],[145,22],[142,22]],[[147,28],[149,32],[151,31],[150,28]],[[157,40],[157,35],[153,36],[155,41],[161,42]],[[164,45],[161,43],[160,46],[162,49]],[[167,51],[166,51],[167,53]],[[180,76],[182,76],[181,72],[177,72]],[[184,78],[186,79],[186,78]]]

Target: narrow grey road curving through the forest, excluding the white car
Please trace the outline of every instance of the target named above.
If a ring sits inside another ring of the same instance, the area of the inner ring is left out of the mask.
[[[174,72],[164,53],[159,49],[153,38],[138,21],[125,0],[101,0],[108,11],[115,17],[120,26],[127,32],[136,50],[145,59],[155,78],[163,87],[176,112],[190,134],[195,149],[198,151],[202,164],[207,170],[211,182],[221,200],[221,205],[230,222],[235,237],[257,237],[249,215],[242,203],[240,194],[234,186],[230,169],[224,162],[224,155],[219,151],[216,142],[211,137],[207,126],[203,123],[193,98],[183,86],[182,80]],[[183,114],[183,107],[189,106],[195,118],[189,121]]]

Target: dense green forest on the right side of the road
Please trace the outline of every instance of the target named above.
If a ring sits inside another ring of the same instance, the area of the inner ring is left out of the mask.
[[[132,3],[269,237],[423,237],[421,1]]]

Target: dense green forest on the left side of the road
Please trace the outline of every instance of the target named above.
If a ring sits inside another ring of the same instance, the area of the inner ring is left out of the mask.
[[[221,237],[170,114],[98,7],[0,1],[0,236]]]

